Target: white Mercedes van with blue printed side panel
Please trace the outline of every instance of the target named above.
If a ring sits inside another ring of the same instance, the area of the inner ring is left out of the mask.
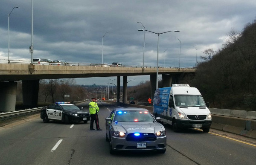
[[[212,115],[208,107],[199,90],[188,84],[172,84],[154,93],[154,117],[171,124],[175,132],[182,128],[202,128],[209,132]]]

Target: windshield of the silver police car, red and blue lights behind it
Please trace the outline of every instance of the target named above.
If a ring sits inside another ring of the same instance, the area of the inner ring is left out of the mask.
[[[116,111],[113,121],[118,122],[153,122],[154,118],[145,110]]]

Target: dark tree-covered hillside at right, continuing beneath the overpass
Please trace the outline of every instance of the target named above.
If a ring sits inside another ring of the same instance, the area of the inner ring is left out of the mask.
[[[227,42],[217,52],[212,48],[204,51],[195,75],[178,83],[197,87],[210,107],[256,110],[256,21],[244,26],[243,32],[231,30],[227,36]],[[150,91],[145,90],[150,87],[145,85],[150,83],[132,88],[133,93],[145,94],[138,96],[138,101],[146,102],[150,97]]]

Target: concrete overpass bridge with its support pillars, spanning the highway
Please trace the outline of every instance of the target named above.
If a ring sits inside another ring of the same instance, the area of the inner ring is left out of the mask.
[[[194,73],[194,68],[159,67],[163,87],[175,84],[181,75]],[[123,103],[126,103],[127,76],[149,75],[151,98],[156,90],[157,67],[99,67],[76,64],[72,66],[0,63],[0,111],[15,111],[17,82],[22,81],[23,104],[36,106],[38,103],[39,80],[59,78],[117,77],[117,100],[120,98],[120,76],[123,76]]]

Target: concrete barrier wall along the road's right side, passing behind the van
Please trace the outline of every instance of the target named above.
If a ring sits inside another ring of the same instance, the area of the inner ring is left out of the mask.
[[[153,111],[152,106],[138,104],[122,104],[111,101],[108,101],[108,103],[122,107],[145,108],[151,113]],[[256,139],[256,112],[216,108],[209,108],[209,110],[212,113],[211,128]]]

